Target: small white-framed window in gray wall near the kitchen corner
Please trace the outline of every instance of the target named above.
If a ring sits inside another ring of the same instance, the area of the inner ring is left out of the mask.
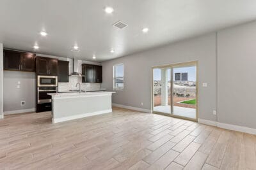
[[[116,64],[113,66],[113,89],[124,89],[124,64]]]

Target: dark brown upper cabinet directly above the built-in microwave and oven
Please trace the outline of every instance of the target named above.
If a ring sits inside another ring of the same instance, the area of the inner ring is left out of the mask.
[[[36,57],[36,74],[58,76],[58,59]]]

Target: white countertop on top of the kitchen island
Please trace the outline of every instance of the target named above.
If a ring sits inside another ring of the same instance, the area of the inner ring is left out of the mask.
[[[52,96],[52,99],[63,99],[63,98],[72,98],[72,97],[93,97],[93,96],[109,96],[115,92],[67,92],[67,93],[49,93],[49,96]]]

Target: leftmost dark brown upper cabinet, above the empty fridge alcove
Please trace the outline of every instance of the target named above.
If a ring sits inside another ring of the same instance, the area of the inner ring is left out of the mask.
[[[35,71],[35,53],[4,50],[4,70]]]

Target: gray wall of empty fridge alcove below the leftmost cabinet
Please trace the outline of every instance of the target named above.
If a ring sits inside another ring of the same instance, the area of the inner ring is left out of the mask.
[[[17,88],[20,81],[20,88]],[[35,108],[35,73],[4,71],[4,111]],[[20,102],[26,105],[21,106]]]

